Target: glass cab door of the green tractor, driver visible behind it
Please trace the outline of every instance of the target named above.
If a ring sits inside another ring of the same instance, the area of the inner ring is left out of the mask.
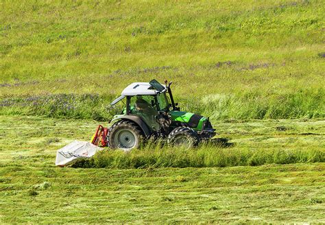
[[[130,99],[130,114],[141,117],[147,126],[152,130],[159,130],[160,126],[156,121],[158,109],[155,97],[152,95],[136,95]]]

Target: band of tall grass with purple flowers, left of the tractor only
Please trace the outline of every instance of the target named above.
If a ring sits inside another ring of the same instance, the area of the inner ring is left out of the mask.
[[[54,118],[110,119],[111,96],[98,94],[58,94],[28,97],[8,97],[0,101],[0,115],[42,115]]]

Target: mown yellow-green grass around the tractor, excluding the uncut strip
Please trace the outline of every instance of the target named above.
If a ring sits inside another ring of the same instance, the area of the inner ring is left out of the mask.
[[[12,116],[0,121],[2,223],[325,222],[324,121],[214,124],[220,137],[234,143],[214,149],[230,152],[219,162],[245,149],[318,151],[318,160],[184,169],[56,167],[56,150],[73,139],[87,141],[95,121]]]

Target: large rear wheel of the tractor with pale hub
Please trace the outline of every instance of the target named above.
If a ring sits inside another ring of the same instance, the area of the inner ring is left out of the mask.
[[[129,151],[140,147],[143,143],[143,131],[132,121],[117,121],[110,127],[108,133],[109,145],[113,149]]]

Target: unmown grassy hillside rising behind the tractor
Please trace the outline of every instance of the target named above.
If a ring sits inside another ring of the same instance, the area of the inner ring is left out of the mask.
[[[156,78],[173,80],[186,109],[203,112],[214,99],[206,113],[215,118],[324,117],[322,1],[0,6],[2,99],[98,93],[109,102],[126,84]]]

